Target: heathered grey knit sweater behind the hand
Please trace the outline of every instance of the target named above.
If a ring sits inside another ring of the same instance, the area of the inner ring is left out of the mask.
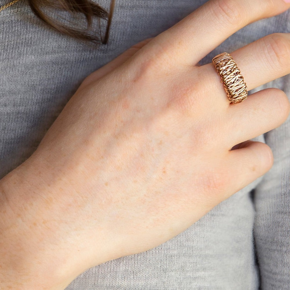
[[[97,2],[108,10],[109,1]],[[33,14],[27,0],[1,11],[0,178],[35,151],[87,75],[204,2],[116,0],[108,44],[98,47],[53,30]],[[68,12],[60,14],[72,18]],[[270,33],[289,31],[289,11],[251,23],[200,64]],[[269,87],[290,97],[289,75],[250,94]],[[290,289],[290,119],[253,140],[266,142],[273,150],[274,165],[263,177],[175,238],[88,269],[66,290]]]

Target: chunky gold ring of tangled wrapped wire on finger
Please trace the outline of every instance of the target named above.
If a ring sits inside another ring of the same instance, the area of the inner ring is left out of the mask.
[[[247,85],[231,55],[227,52],[223,52],[215,56],[212,62],[222,78],[222,83],[229,101],[233,104],[238,104],[247,99]]]

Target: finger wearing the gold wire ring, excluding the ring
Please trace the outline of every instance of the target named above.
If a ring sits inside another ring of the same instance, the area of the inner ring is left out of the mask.
[[[230,54],[240,69],[249,91],[290,73],[290,33],[267,35]],[[228,106],[224,86],[213,64],[206,64],[199,69],[202,70],[208,84],[206,93],[211,95],[218,89],[220,93],[216,94],[217,102]],[[245,102],[248,102],[248,99]],[[240,104],[231,104],[231,107]]]

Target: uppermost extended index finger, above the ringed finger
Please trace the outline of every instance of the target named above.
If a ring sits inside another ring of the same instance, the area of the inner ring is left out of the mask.
[[[289,7],[283,0],[210,0],[155,37],[152,44],[171,64],[196,64],[242,27]]]

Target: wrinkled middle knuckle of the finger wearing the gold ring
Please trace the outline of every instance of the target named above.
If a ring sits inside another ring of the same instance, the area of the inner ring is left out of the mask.
[[[283,33],[273,33],[263,39],[264,54],[274,71],[287,70],[290,65],[290,41]]]

